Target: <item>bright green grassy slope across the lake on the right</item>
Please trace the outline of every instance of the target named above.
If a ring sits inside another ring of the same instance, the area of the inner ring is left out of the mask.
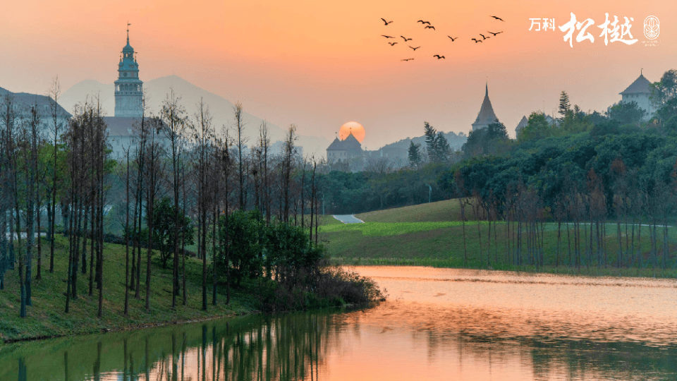
[[[489,225],[480,223],[480,238],[477,231],[477,222],[465,223],[466,246],[468,263],[464,263],[463,224],[460,218],[458,202],[456,200],[433,202],[431,204],[415,205],[391,210],[383,210],[359,214],[358,218],[365,224],[332,224],[322,226],[320,238],[327,244],[329,256],[337,262],[362,265],[432,265],[440,267],[471,267],[517,270],[506,259],[505,234],[506,225],[492,224],[491,257],[487,265],[487,235]],[[446,216],[446,218],[444,218]],[[429,221],[429,222],[422,222]],[[496,242],[494,242],[494,228]],[[573,237],[573,231],[572,231]],[[659,228],[658,263],[661,263],[662,229]],[[665,277],[677,277],[675,270],[666,272],[652,267],[649,234],[647,227],[642,228],[642,262],[648,269],[611,269],[614,267],[618,253],[618,236],[615,225],[606,227],[607,263],[609,269],[581,270],[586,274],[654,274]],[[669,229],[669,241],[677,242],[677,229]],[[497,244],[496,244],[497,243]],[[623,236],[623,245],[625,238]],[[542,269],[547,272],[573,272],[568,267],[554,268],[554,264],[568,263],[568,246],[566,241],[566,226],[562,226],[559,261],[557,260],[557,225],[546,224],[544,236],[545,262],[549,265]],[[671,252],[674,245],[671,244]],[[585,245],[587,249],[589,245]],[[526,257],[526,240],[523,241],[523,256]],[[594,246],[596,250],[596,246]],[[586,253],[584,253],[587,256]],[[625,253],[623,256],[625,258]],[[587,258],[587,257],[586,257]],[[669,260],[669,269],[674,269],[676,255]],[[523,266],[518,270],[534,270]]]

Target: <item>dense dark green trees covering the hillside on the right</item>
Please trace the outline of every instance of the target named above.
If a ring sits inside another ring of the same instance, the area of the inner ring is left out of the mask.
[[[468,159],[444,171],[439,187],[477,220],[482,260],[499,261],[501,250],[501,262],[513,265],[673,266],[677,109],[666,95],[673,93],[673,77],[669,71],[653,85],[658,109],[651,120],[642,119],[635,102],[616,104],[605,115],[571,109],[562,92],[557,123],[533,113],[504,152],[465,152]],[[484,238],[480,219],[488,225]],[[553,223],[555,253],[546,255],[546,224]]]

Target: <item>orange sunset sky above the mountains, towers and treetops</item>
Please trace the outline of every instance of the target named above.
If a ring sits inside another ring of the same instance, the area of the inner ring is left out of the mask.
[[[523,115],[553,113],[561,90],[586,111],[604,111],[640,68],[652,82],[677,68],[677,1],[667,0],[57,0],[4,1],[0,11],[0,87],[7,90],[44,94],[55,75],[62,90],[81,80],[112,83],[129,21],[141,80],[178,75],[277,126],[295,123],[298,133],[327,140],[358,121],[370,150],[422,135],[424,121],[468,133],[485,80],[496,116],[514,135]],[[569,47],[558,28],[529,30],[530,18],[559,26],[571,12],[594,20],[594,43],[574,38]],[[605,46],[597,28],[604,13],[621,23],[632,17],[639,41]],[[647,16],[661,23],[655,46],[643,43]],[[420,19],[436,30],[424,30]],[[504,33],[470,40],[487,31]],[[414,52],[400,35],[421,48]],[[407,58],[415,60],[400,61]]]

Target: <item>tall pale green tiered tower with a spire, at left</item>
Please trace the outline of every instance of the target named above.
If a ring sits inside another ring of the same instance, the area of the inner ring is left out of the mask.
[[[127,44],[122,48],[118,79],[115,81],[115,116],[139,118],[143,114],[143,82],[139,79],[139,64],[134,48],[129,44],[129,25],[128,23]]]

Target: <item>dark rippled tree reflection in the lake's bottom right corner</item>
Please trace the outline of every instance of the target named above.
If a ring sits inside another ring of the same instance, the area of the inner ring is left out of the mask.
[[[676,380],[677,347],[635,342],[600,342],[414,330],[413,341],[425,341],[429,360],[455,351],[458,363],[475,366],[530,365],[533,380]],[[465,357],[466,362],[463,358]],[[478,365],[479,364],[479,365]]]

